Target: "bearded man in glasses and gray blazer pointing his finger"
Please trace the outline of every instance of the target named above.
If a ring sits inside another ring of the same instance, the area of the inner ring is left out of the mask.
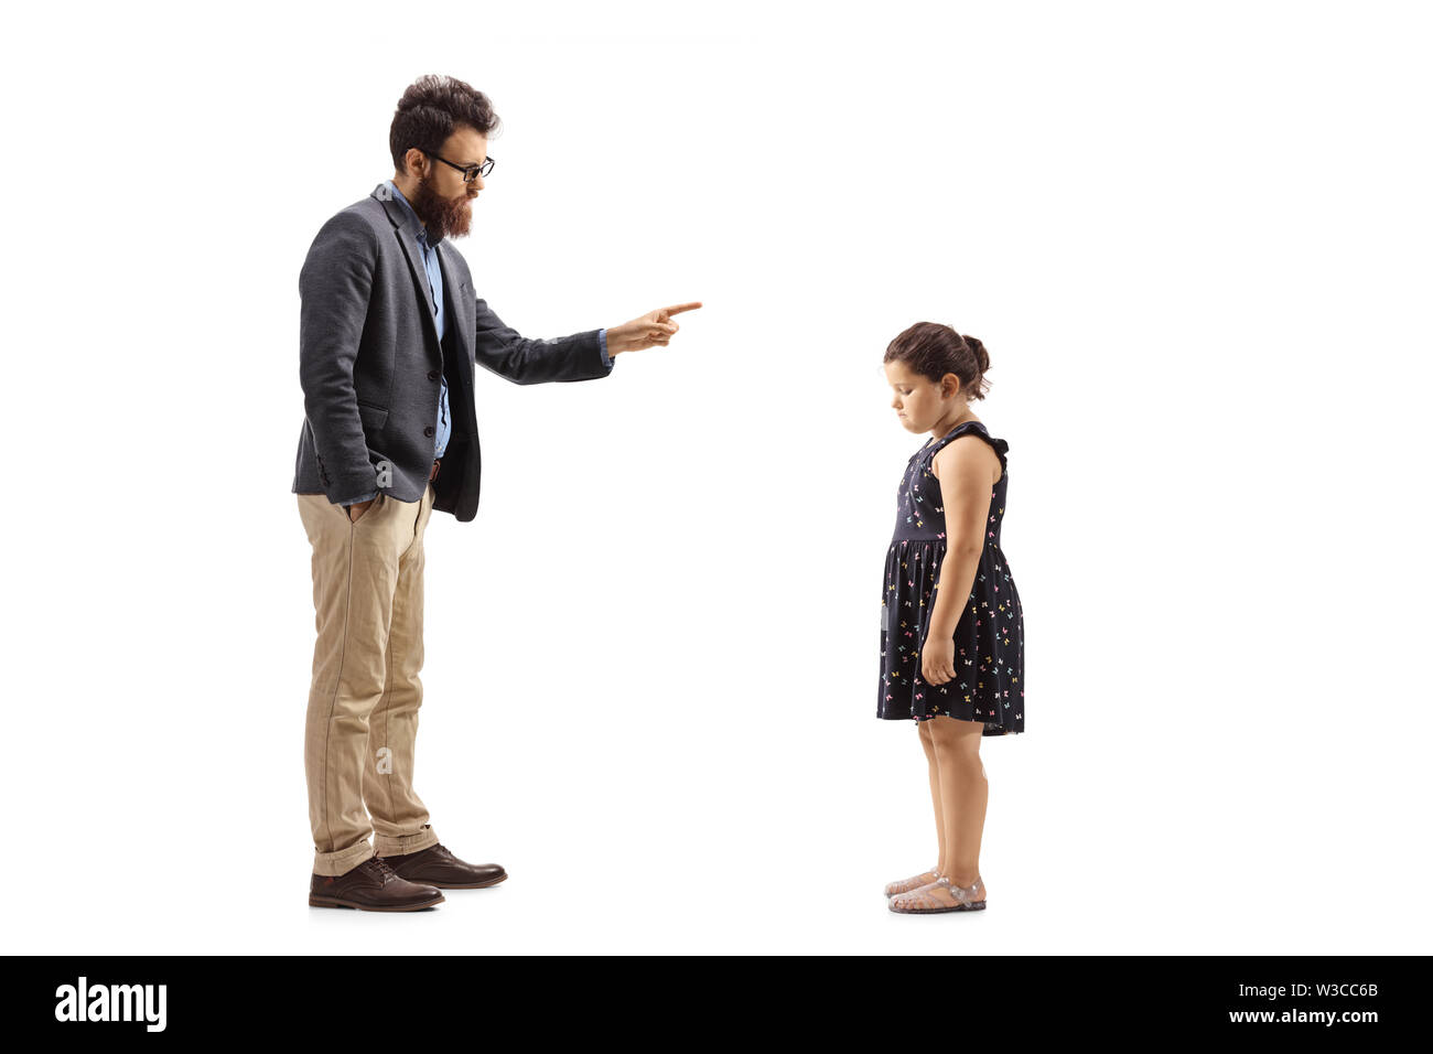
[[[434,509],[460,522],[477,512],[474,366],[517,384],[606,377],[616,356],[665,347],[672,315],[701,307],[557,340],[504,326],[451,245],[493,169],[497,123],[487,96],[460,80],[413,83],[388,132],[393,179],[324,224],[298,280],[292,492],[318,631],[304,741],[314,906],[417,911],[441,889],[507,878],[438,843],[413,789],[423,535]]]

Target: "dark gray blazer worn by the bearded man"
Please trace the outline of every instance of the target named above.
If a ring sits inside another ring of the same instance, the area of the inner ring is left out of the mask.
[[[375,488],[404,502],[423,496],[433,467],[438,377],[449,386],[453,433],[433,480],[433,508],[477,515],[481,452],[473,367],[516,384],[593,380],[598,330],[532,340],[503,324],[473,291],[467,261],[437,244],[447,326],[428,307],[428,277],[414,245],[417,221],[378,184],[318,231],[298,275],[298,380],[304,427],[294,493],[353,500]]]

